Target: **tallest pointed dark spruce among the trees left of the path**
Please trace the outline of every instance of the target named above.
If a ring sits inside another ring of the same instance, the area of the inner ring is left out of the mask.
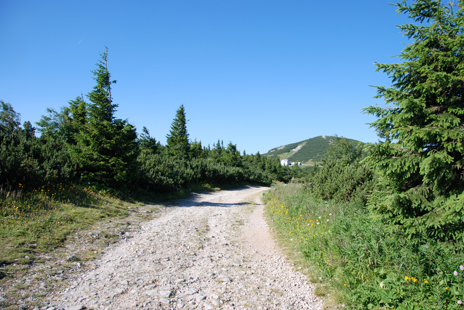
[[[116,119],[117,104],[111,97],[108,71],[108,48],[100,53],[101,60],[93,70],[96,85],[88,93],[90,103],[72,105],[81,128],[77,134],[75,158],[82,179],[110,187],[120,187],[135,178],[137,172],[137,134],[127,120]]]

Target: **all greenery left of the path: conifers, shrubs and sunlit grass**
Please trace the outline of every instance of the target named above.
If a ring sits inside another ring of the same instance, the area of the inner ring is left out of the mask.
[[[75,231],[127,216],[137,200],[182,197],[244,183],[270,185],[305,171],[281,167],[236,144],[191,141],[177,109],[167,144],[146,127],[137,134],[114,115],[108,49],[92,71],[95,86],[59,111],[47,108],[37,128],[0,100],[0,266],[29,263]],[[36,131],[40,133],[37,137]]]

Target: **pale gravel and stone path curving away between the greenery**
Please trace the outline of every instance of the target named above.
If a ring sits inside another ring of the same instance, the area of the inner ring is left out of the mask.
[[[322,309],[274,245],[264,187],[195,194],[110,246],[47,309]]]

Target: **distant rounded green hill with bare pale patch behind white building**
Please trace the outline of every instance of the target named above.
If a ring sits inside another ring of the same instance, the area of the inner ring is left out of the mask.
[[[353,145],[359,141],[348,139]],[[318,136],[301,142],[291,143],[271,149],[265,156],[270,158],[288,159],[290,162],[301,162],[305,165],[313,165],[321,161],[322,155],[333,143],[331,136]]]

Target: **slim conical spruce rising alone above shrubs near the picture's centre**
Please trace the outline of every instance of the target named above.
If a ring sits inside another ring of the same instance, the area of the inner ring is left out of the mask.
[[[190,153],[189,134],[187,133],[187,119],[184,104],[176,111],[176,117],[171,124],[171,130],[166,136],[166,154],[176,158],[186,159]]]

